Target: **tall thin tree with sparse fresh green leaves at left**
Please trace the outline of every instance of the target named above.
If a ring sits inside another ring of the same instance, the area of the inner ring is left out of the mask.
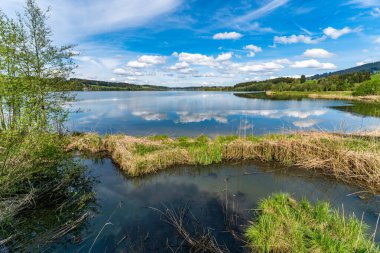
[[[66,119],[73,46],[53,44],[48,13],[26,0],[17,21],[0,16],[0,130],[51,130]]]

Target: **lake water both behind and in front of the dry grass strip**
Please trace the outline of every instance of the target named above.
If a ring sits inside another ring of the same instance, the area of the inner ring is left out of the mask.
[[[364,116],[344,101],[261,100],[226,92],[79,92],[67,127],[101,134],[170,136],[265,134],[289,130],[375,130],[380,119]],[[355,105],[354,105],[355,106]],[[356,108],[356,107],[355,107]],[[245,162],[176,167],[140,178],[127,177],[110,159],[82,160],[95,176],[96,203],[84,226],[53,244],[55,252],[170,252],[182,239],[155,210],[187,207],[191,231],[212,228],[219,244],[244,252],[229,229],[244,230],[252,209],[272,193],[297,200],[329,201],[345,215],[355,213],[374,231],[380,199],[360,188],[312,171]],[[227,202],[227,204],[226,204]],[[227,206],[227,208],[226,208]],[[45,218],[43,214],[34,219]],[[52,215],[52,214],[50,214]],[[54,219],[53,219],[54,220]],[[231,222],[232,220],[232,222]],[[194,225],[195,224],[195,225]],[[376,236],[380,241],[380,233]],[[91,249],[91,251],[90,251]],[[181,247],[177,252],[188,252]]]

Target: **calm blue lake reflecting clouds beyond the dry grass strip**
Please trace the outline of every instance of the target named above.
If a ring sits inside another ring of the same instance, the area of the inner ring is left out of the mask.
[[[288,130],[374,130],[380,119],[343,101],[273,101],[226,92],[79,92],[67,127],[75,131],[166,134],[264,134]],[[340,109],[342,108],[342,109]]]

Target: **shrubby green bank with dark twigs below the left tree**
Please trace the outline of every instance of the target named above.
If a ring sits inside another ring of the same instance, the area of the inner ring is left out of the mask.
[[[0,248],[45,250],[89,216],[93,182],[66,145],[58,134],[0,132]]]

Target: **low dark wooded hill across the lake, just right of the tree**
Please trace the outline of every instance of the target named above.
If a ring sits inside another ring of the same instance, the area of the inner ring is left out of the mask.
[[[74,84],[78,90],[127,90],[127,91],[143,91],[143,90],[168,90],[168,87],[156,85],[138,85],[120,82],[95,81],[87,79],[72,78],[70,82]]]

